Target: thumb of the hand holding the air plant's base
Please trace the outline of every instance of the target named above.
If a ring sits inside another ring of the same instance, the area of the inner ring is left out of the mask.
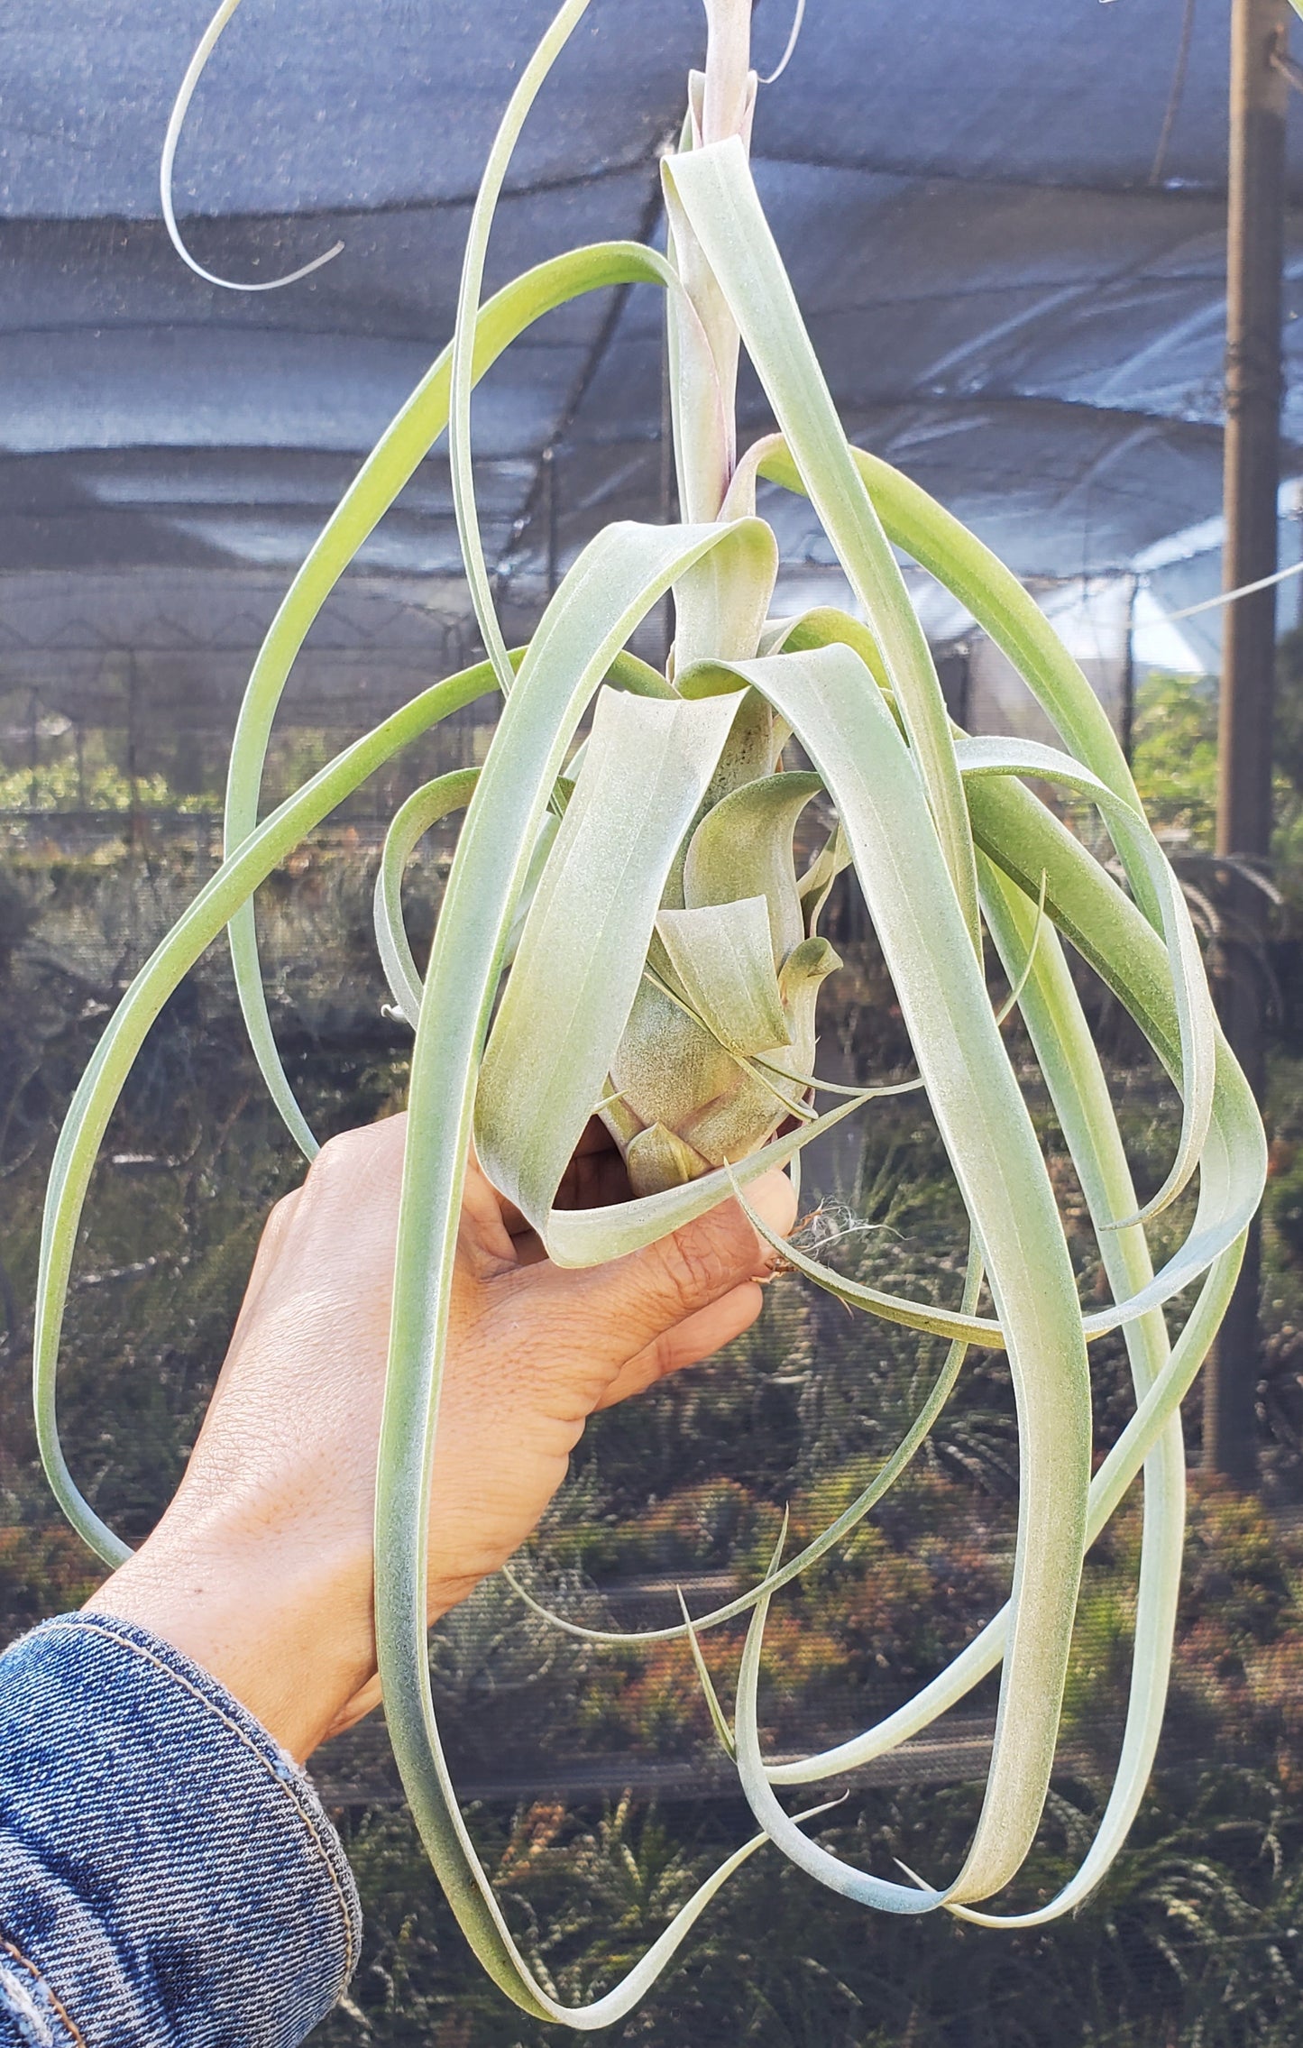
[[[797,1196],[787,1174],[766,1174],[748,1190],[748,1200],[770,1231],[783,1237],[791,1231]],[[738,1202],[719,1202],[670,1237],[584,1272],[586,1346],[606,1366],[623,1366],[733,1288],[768,1278],[776,1257]],[[574,1282],[580,1276],[570,1272],[565,1278]],[[756,1290],[748,1321],[758,1307]]]

